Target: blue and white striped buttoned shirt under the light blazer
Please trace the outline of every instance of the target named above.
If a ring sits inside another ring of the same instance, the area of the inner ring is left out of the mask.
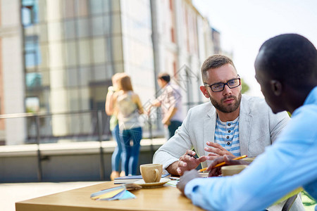
[[[215,143],[235,156],[240,156],[239,117],[230,122],[221,122],[217,117]]]

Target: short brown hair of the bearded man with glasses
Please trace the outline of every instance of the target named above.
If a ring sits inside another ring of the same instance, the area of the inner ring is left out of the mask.
[[[220,68],[221,66],[226,64],[230,64],[233,66],[233,68],[235,68],[235,65],[228,56],[215,54],[213,56],[209,56],[209,58],[206,58],[203,65],[201,65],[201,77],[203,82],[206,82],[206,73],[208,70]]]

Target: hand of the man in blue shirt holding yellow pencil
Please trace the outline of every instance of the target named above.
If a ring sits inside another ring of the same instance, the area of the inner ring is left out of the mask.
[[[224,155],[221,157],[216,158],[211,162],[211,165],[207,168],[206,171],[210,171],[208,174],[208,177],[218,177],[221,174],[221,167],[216,167],[220,162],[225,162],[225,165],[249,165],[250,162],[244,161],[244,160],[232,160],[233,156],[230,155]]]

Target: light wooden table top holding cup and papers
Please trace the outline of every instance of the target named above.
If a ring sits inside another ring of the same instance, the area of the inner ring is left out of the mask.
[[[191,200],[182,196],[178,188],[142,188],[131,191],[137,198],[128,200],[92,200],[90,195],[105,188],[118,186],[106,181],[94,186],[77,188],[15,203],[16,211],[61,210],[201,210]]]

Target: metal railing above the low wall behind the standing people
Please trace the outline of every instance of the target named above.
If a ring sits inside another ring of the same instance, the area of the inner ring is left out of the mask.
[[[105,179],[104,165],[104,149],[101,145],[102,141],[110,140],[111,132],[109,129],[109,117],[104,110],[83,110],[68,113],[16,113],[8,115],[0,115],[0,120],[6,121],[6,126],[12,124],[9,120],[16,118],[24,118],[20,127],[25,127],[25,139],[23,144],[35,143],[37,145],[37,180],[42,181],[42,161],[46,160],[46,156],[42,156],[39,148],[41,143],[58,143],[59,141],[99,141],[99,175],[100,179]],[[90,124],[88,124],[90,120]],[[150,139],[162,132],[153,133],[152,129],[157,127],[151,124],[151,121],[144,121],[144,137]],[[61,127],[66,126],[66,129]],[[19,127],[15,125],[15,127]],[[63,129],[58,132],[54,127]],[[77,129],[79,127],[79,129]],[[88,127],[88,128],[85,128]],[[154,153],[151,146],[151,153]]]

